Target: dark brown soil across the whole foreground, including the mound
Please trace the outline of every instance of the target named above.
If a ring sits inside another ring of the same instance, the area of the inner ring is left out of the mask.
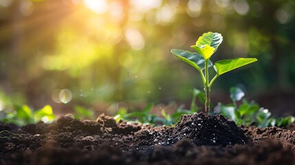
[[[239,127],[222,115],[182,115],[174,127],[63,116],[0,122],[0,164],[295,164],[295,125]]]

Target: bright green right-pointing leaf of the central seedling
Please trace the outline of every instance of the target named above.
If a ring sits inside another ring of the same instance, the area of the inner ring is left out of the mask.
[[[238,67],[248,65],[257,61],[256,58],[235,58],[230,60],[221,60],[215,63],[215,69],[218,75],[229,72]]]

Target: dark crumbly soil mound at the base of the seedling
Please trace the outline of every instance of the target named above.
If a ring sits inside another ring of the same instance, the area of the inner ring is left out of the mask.
[[[197,146],[200,145],[234,145],[251,143],[243,131],[232,121],[222,115],[206,116],[204,113],[182,115],[173,127],[171,137],[188,138]]]

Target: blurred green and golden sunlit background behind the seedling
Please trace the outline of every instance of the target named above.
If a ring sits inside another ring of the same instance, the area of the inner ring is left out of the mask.
[[[294,0],[0,0],[0,110],[187,105],[202,83],[170,50],[193,52],[212,31],[223,35],[212,61],[259,60],[218,78],[213,104],[239,85],[270,111],[294,115],[294,9]]]

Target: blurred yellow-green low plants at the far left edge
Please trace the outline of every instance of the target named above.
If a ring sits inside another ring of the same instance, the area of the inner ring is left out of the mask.
[[[45,107],[36,111],[31,109],[26,104],[23,106],[14,105],[14,110],[3,110],[0,112],[1,122],[12,122],[19,126],[23,126],[25,124],[34,124],[39,121],[50,123],[53,122],[55,118],[56,116],[54,115],[50,105],[45,105]]]

